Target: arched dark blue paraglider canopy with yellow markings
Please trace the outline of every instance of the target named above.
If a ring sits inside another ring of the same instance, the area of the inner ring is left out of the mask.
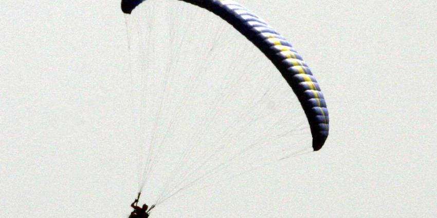
[[[121,9],[130,14],[144,1],[122,0]],[[261,18],[234,1],[181,1],[219,15],[270,59],[298,97],[313,135],[313,149],[320,150],[329,134],[329,115],[316,78],[295,48]]]

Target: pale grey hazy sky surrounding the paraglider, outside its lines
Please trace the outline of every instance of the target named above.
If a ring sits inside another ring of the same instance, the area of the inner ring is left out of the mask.
[[[240,3],[316,73],[329,140],[153,215],[434,217],[437,3]],[[137,177],[119,2],[6,0],[0,12],[0,216],[128,215]]]

